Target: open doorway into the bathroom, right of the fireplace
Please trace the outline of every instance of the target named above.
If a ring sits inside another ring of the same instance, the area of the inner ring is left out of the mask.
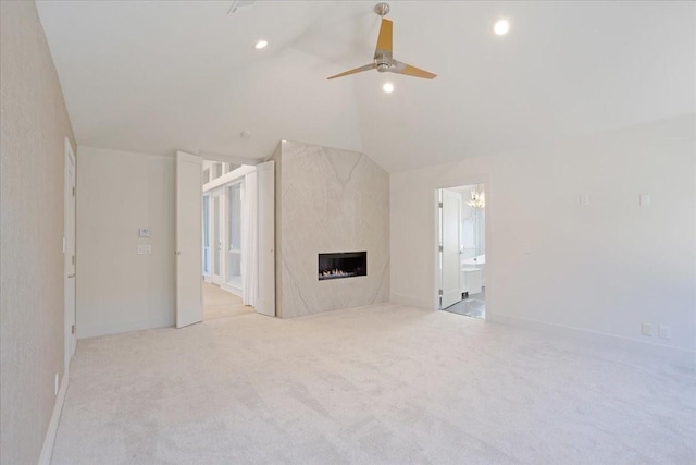
[[[438,189],[439,308],[486,317],[486,186]]]

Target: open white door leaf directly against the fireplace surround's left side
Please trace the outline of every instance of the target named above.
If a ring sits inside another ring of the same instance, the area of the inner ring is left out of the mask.
[[[259,293],[257,313],[275,316],[275,161],[257,166],[259,184]]]

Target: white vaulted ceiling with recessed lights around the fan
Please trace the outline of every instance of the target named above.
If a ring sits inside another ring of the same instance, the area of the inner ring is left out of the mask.
[[[291,139],[393,172],[695,111],[694,2],[391,1],[395,58],[438,77],[326,81],[371,61],[374,3],[37,5],[87,146],[261,159]]]

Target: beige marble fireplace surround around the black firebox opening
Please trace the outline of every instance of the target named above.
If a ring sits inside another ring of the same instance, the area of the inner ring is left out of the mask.
[[[389,178],[350,150],[283,140],[275,160],[276,315],[389,298]],[[365,250],[368,274],[318,279],[318,256]]]

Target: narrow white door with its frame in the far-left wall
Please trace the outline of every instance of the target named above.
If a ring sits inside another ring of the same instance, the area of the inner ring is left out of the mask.
[[[72,175],[70,167],[73,167]],[[70,139],[65,137],[65,156],[63,168],[63,322],[64,322],[64,367],[65,372],[70,368],[70,362],[77,348],[77,265],[76,265],[76,218],[77,218],[77,160]],[[72,234],[69,228],[69,211],[72,209]],[[72,244],[71,244],[72,243]],[[72,254],[70,254],[72,252]],[[75,257],[75,258],[73,258]],[[67,290],[73,287],[72,303],[69,302]]]

